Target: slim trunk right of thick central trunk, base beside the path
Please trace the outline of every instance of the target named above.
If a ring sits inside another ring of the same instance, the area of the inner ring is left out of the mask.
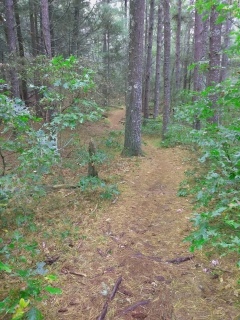
[[[170,26],[170,1],[163,1],[164,10],[164,106],[162,137],[166,137],[170,122],[170,54],[171,54],[171,26]]]

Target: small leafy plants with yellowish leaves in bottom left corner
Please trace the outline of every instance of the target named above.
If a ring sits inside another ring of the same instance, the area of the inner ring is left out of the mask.
[[[30,262],[32,259],[28,257],[37,257],[40,251],[37,243],[28,243],[22,233],[15,231],[7,240],[0,239],[0,244],[0,272],[14,282],[14,287],[6,290],[5,298],[0,301],[0,314],[12,314],[15,320],[25,316],[26,319],[43,319],[34,303],[46,298],[46,294],[61,294],[59,288],[50,285],[56,276],[46,276],[45,262],[35,265]]]

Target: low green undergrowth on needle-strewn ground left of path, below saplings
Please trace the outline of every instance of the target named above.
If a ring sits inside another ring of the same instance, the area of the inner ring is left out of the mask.
[[[4,319],[43,319],[41,306],[44,301],[49,295],[61,294],[64,290],[58,272],[51,268],[54,263],[54,257],[51,262],[51,251],[46,255],[47,244],[51,243],[55,254],[60,256],[68,254],[72,242],[87,241],[88,235],[81,232],[75,221],[78,217],[67,217],[64,212],[71,207],[85,212],[88,206],[101,206],[119,195],[114,170],[107,176],[104,172],[119,154],[122,140],[120,131],[96,138],[96,154],[90,159],[88,144],[76,136],[68,145],[68,151],[73,150],[71,157],[63,157],[52,167],[51,173],[45,173],[41,194],[34,195],[31,189],[31,193],[22,198],[4,198],[2,195],[0,315]],[[87,176],[90,160],[98,168],[99,177]],[[62,175],[64,170],[67,170],[67,176]],[[75,185],[73,191],[63,189],[67,198],[59,197],[57,191],[47,187],[61,183],[64,188],[66,179],[68,182],[72,179]],[[95,210],[90,212],[93,217]]]

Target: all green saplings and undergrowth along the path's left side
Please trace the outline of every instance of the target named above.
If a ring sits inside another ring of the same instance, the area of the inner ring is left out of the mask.
[[[85,212],[119,194],[114,175],[106,179],[104,172],[120,149],[122,133],[98,137],[91,158],[87,143],[79,140],[79,126],[101,119],[103,112],[86,99],[94,88],[92,71],[75,57],[55,57],[40,72],[48,82],[35,89],[45,111],[52,112],[50,122],[8,92],[0,94],[0,317],[6,320],[43,319],[45,300],[62,293],[52,253],[66,254],[69,239],[87,238],[65,211]],[[86,177],[89,161],[99,178]],[[55,190],[56,184],[62,189]]]

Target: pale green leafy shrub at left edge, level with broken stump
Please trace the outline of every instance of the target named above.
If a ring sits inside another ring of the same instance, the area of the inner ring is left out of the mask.
[[[0,153],[2,174],[0,176],[0,213],[10,198],[42,192],[38,187],[43,174],[56,164],[59,153],[56,141],[40,128],[34,129],[39,119],[32,116],[23,103],[0,95],[0,119],[2,137]],[[14,169],[7,172],[7,155],[16,160]]]

